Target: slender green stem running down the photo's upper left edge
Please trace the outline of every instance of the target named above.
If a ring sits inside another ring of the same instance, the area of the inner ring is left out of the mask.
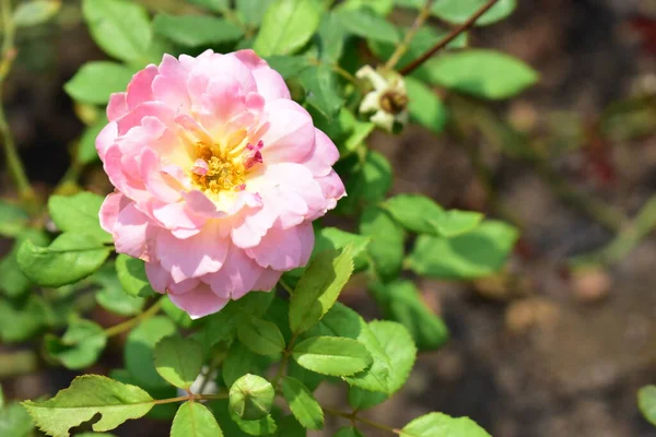
[[[4,85],[4,80],[11,70],[11,66],[13,60],[16,57],[16,50],[14,47],[14,33],[15,27],[13,21],[11,19],[11,0],[2,0],[0,4],[2,11],[2,26],[4,28],[4,40],[2,42],[2,59],[0,61],[0,134],[2,135],[2,140],[4,143],[4,156],[7,160],[7,167],[9,168],[9,174],[13,179],[19,194],[21,197],[22,202],[25,206],[32,209],[34,206],[34,201],[36,199],[34,194],[34,190],[30,185],[30,180],[25,174],[25,169],[23,168],[23,163],[21,163],[21,158],[19,153],[16,152],[16,146],[14,143],[13,135],[9,128],[9,123],[7,122],[7,116],[4,114],[4,107],[2,106],[2,87]]]

